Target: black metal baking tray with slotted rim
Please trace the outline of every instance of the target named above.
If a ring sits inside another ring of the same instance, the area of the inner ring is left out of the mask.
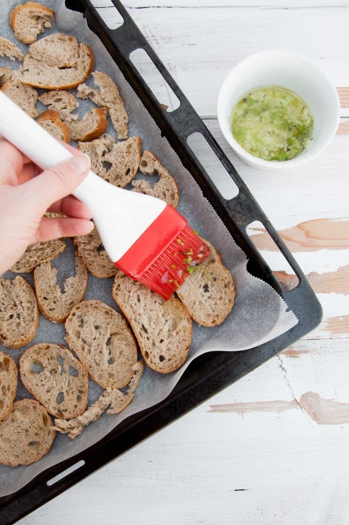
[[[0,524],[15,523],[29,512],[43,505],[64,490],[92,474],[109,461],[148,438],[178,417],[206,401],[224,387],[237,381],[264,361],[313,330],[322,319],[322,309],[315,293],[302,270],[284,245],[262,209],[241,180],[234,166],[223,153],[218,143],[201,121],[187,98],[174,82],[165,66],[154,53],[147,40],[122,6],[112,0],[124,23],[117,29],[109,29],[90,0],[66,0],[69,9],[83,13],[89,28],[102,41],[130,86],[137,93],[151,117],[156,121],[161,134],[167,138],[178,154],[182,164],[192,174],[204,196],[214,207],[227,226],[237,244],[247,255],[251,274],[268,282],[293,310],[299,322],[291,330],[267,343],[243,352],[209,352],[195,359],[184,372],[170,395],[161,403],[134,414],[122,421],[110,434],[82,453],[51,467],[12,495],[0,498]],[[180,101],[178,109],[166,112],[145,83],[129,56],[136,49],[144,49],[162,77]],[[221,161],[239,188],[239,194],[227,200],[222,197],[211,178],[204,170],[192,150],[187,138],[195,132],[202,133],[213,152]],[[285,259],[299,279],[299,285],[291,291],[284,290],[274,278],[259,251],[247,234],[247,226],[260,220]],[[67,474],[53,485],[47,481],[84,460],[83,466]]]

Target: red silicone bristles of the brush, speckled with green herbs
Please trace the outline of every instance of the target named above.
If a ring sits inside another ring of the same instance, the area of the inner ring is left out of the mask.
[[[169,299],[209,255],[209,248],[187,225],[138,280]]]

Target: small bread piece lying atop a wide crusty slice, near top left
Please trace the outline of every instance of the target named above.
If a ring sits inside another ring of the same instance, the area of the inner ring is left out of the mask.
[[[76,67],[80,49],[75,36],[54,33],[34,42],[29,47],[29,55],[48,66]]]

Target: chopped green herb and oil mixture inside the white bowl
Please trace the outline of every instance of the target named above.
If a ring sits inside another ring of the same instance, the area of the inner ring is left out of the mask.
[[[280,87],[257,88],[234,107],[233,137],[251,155],[287,161],[299,155],[312,138],[313,117],[295,93]]]

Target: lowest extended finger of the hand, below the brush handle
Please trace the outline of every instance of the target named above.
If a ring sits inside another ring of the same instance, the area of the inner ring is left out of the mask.
[[[45,240],[59,239],[60,237],[75,237],[86,235],[94,228],[94,223],[86,219],[72,219],[70,217],[44,217],[39,224],[32,243],[42,243]]]

